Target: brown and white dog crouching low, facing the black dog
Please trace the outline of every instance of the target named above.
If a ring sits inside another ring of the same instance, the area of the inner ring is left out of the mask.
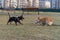
[[[52,25],[53,19],[51,17],[38,17],[38,20],[36,23],[40,23],[42,25]]]

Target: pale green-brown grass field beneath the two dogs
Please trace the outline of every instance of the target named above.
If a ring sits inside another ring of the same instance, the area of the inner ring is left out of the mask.
[[[17,14],[18,15],[18,14]],[[60,15],[53,12],[40,12],[40,16],[50,16],[55,26],[34,24],[38,15],[24,15],[24,25],[6,25],[8,15],[0,14],[0,40],[60,40]]]

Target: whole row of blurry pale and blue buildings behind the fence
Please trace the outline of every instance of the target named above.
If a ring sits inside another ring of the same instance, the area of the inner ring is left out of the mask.
[[[0,0],[3,8],[52,8],[60,9],[60,0]]]

